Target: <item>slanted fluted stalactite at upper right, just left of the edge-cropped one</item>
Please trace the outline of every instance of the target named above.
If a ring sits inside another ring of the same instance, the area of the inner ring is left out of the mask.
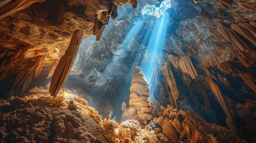
[[[223,26],[223,24],[217,23],[217,30],[226,41],[233,43],[239,51],[249,49],[248,45],[246,45],[246,43],[243,42],[231,28],[227,28]]]

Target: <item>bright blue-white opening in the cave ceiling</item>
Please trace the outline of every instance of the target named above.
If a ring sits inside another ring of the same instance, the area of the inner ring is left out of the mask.
[[[155,17],[161,17],[161,15],[164,15],[165,11],[171,8],[171,0],[165,0],[161,3],[160,7],[156,7],[156,5],[148,5],[146,4],[142,10],[141,13],[143,15],[153,15]]]

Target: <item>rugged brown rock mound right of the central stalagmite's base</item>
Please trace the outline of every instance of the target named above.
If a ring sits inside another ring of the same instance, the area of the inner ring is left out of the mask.
[[[170,105],[159,114],[155,132],[161,142],[246,142],[227,128],[207,123],[192,111]]]

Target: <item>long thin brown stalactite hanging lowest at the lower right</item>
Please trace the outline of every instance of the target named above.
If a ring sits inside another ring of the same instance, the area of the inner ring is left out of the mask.
[[[218,102],[220,103],[221,107],[223,108],[224,113],[227,116],[226,122],[227,122],[227,125],[229,125],[229,129],[233,130],[236,133],[237,131],[236,131],[235,122],[233,120],[232,115],[230,114],[229,108],[227,108],[227,105],[224,101],[223,94],[221,93],[220,88],[210,77],[206,76],[205,80],[208,83],[209,88],[211,89],[214,96],[217,98]]]

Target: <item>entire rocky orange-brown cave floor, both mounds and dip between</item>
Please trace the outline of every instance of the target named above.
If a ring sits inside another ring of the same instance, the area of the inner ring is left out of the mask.
[[[154,130],[141,129],[136,120],[120,125],[101,120],[88,102],[68,91],[57,97],[48,86],[35,87],[23,98],[0,102],[1,142],[246,142],[229,129],[206,122],[192,111],[168,105],[158,111]]]

